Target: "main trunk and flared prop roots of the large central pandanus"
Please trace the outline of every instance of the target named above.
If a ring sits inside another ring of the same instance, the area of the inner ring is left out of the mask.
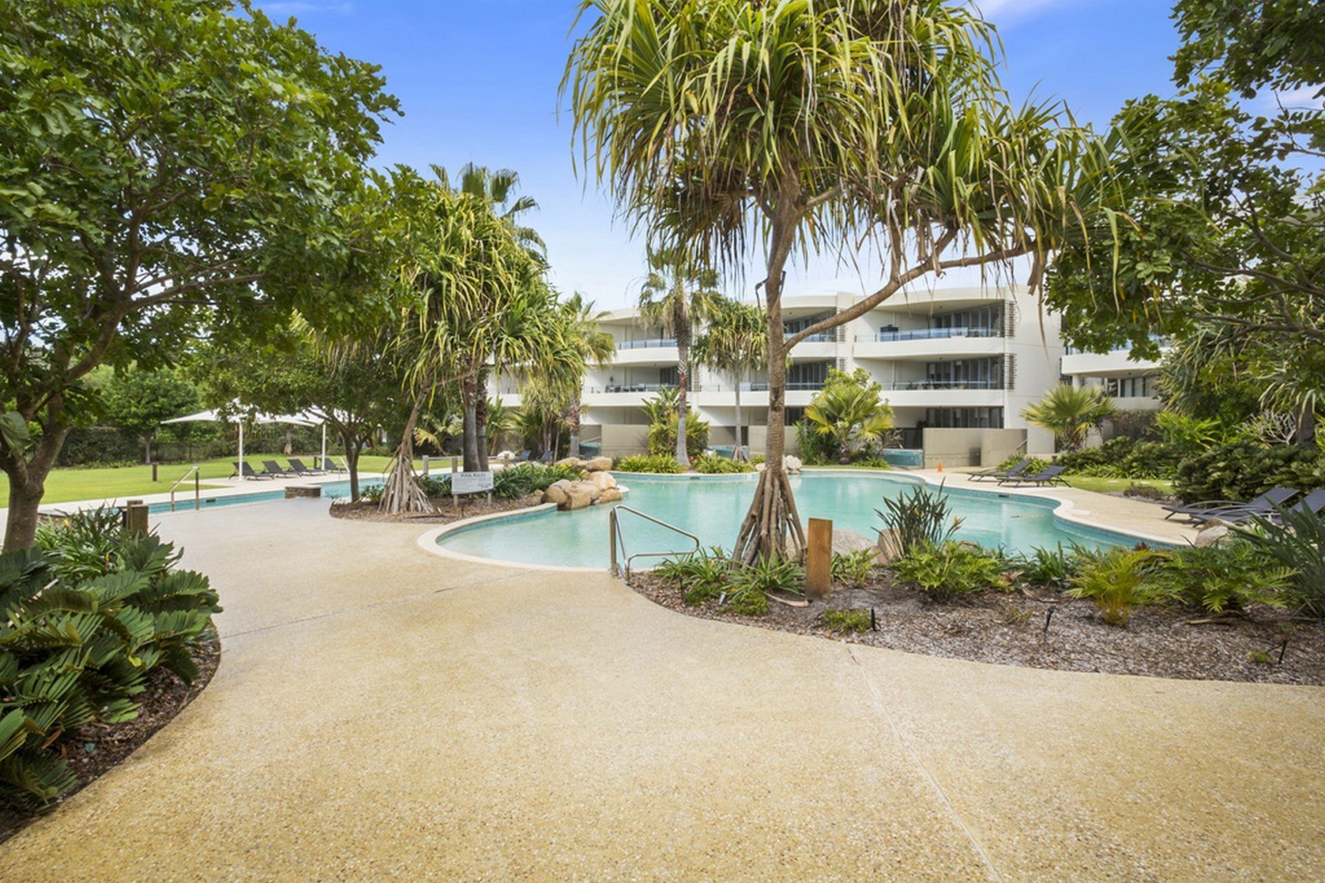
[[[741,523],[731,557],[754,564],[761,559],[799,560],[806,548],[806,532],[791,495],[791,483],[782,462],[786,450],[786,334],[782,328],[782,270],[795,236],[799,209],[795,195],[784,188],[772,220],[768,249],[768,275],[765,298],[768,306],[768,441],[763,473],[755,485],[750,511]]]

